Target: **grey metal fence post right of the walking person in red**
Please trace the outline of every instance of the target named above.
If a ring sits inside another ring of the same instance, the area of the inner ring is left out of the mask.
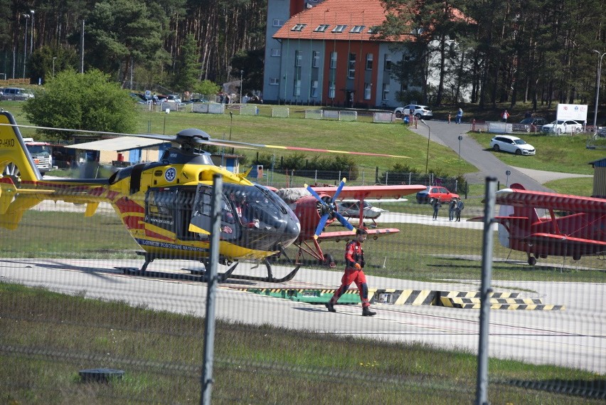
[[[482,241],[482,286],[480,288],[480,317],[479,317],[479,344],[478,344],[478,375],[476,386],[475,405],[488,405],[488,335],[490,295],[492,288],[492,243],[491,231],[494,221],[494,201],[496,193],[496,178],[486,178],[486,192],[484,194],[484,236]]]

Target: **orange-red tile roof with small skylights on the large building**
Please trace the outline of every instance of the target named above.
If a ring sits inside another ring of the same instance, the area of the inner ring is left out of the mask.
[[[274,38],[377,41],[368,29],[380,26],[385,21],[386,11],[381,0],[325,0],[321,4],[292,16]],[[305,24],[300,31],[292,31],[297,24]],[[327,24],[326,31],[314,31]],[[346,26],[341,32],[334,32],[337,26]],[[361,27],[360,32],[351,32]]]

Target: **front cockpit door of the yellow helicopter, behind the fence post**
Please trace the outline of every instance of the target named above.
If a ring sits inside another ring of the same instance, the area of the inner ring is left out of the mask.
[[[189,231],[209,235],[211,233],[211,205],[213,204],[213,188],[204,184],[198,184],[196,189],[196,200],[193,203]],[[235,213],[231,204],[221,196],[221,223],[220,238],[223,240],[240,238],[240,226],[236,221]]]

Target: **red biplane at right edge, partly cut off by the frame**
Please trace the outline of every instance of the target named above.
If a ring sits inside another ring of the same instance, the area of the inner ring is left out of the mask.
[[[531,191],[511,184],[496,191],[496,204],[501,205],[495,217],[499,242],[526,252],[530,265],[548,256],[579,260],[606,255],[606,199]],[[549,217],[539,217],[536,209],[546,209]],[[556,211],[564,215],[556,216]]]

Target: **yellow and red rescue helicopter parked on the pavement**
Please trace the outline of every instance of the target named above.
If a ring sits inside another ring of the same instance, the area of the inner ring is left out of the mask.
[[[273,191],[253,184],[245,178],[246,174],[234,174],[217,167],[210,154],[202,152],[200,147],[228,144],[325,151],[213,140],[206,132],[194,128],[176,135],[131,136],[163,140],[172,146],[158,162],[119,169],[108,179],[43,179],[23,143],[14,117],[9,112],[0,112],[0,226],[16,229],[23,212],[45,200],[86,204],[85,216],[92,216],[101,202],[107,202],[143,250],[140,252],[145,259],[142,268],[124,269],[125,272],[161,276],[162,273],[147,270],[156,258],[200,261],[206,268],[213,175],[220,174],[223,195],[219,257],[221,264],[230,265],[220,280],[240,278],[280,283],[294,277],[299,265],[285,277],[275,278],[267,257],[297,240],[301,230],[297,216]],[[234,275],[241,260],[262,261],[267,267],[267,276]],[[206,280],[203,271],[192,270],[192,273],[196,274],[191,276],[194,280]]]

